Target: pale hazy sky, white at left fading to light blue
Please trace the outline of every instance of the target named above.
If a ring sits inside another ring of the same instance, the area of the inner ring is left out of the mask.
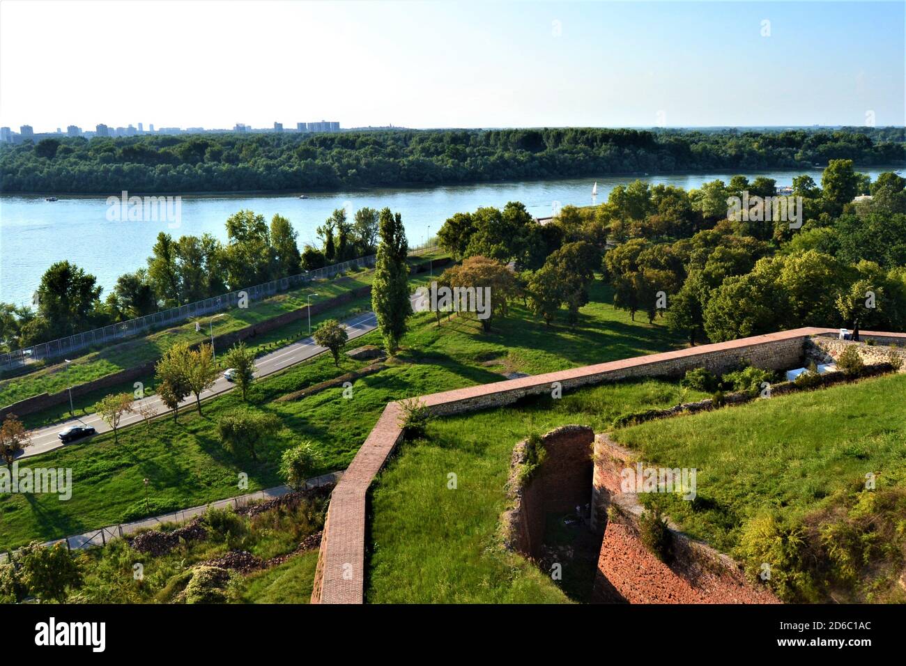
[[[0,124],[901,125],[904,43],[903,2],[5,0]]]

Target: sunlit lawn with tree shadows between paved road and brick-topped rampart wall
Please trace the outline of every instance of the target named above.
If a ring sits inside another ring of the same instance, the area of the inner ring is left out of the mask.
[[[593,290],[593,297],[605,295]],[[122,430],[119,444],[106,433],[27,458],[29,467],[72,468],[72,498],[0,498],[0,549],[242,494],[246,489],[237,487],[240,472],[247,474],[249,491],[276,486],[281,483],[276,474],[280,454],[304,439],[316,442],[322,454],[316,473],[346,468],[389,401],[500,381],[504,372],[551,372],[611,360],[616,357],[608,344],[611,338],[618,350],[631,346],[633,354],[663,351],[679,342],[663,326],[629,323],[628,315],[614,313],[611,305],[586,307],[575,331],[560,323],[535,322],[521,305],[496,320],[491,334],[481,333],[475,320],[454,316],[438,327],[433,314],[416,314],[402,352],[383,371],[355,381],[352,400],[335,388],[300,401],[275,401],[363,365],[345,357],[339,369],[321,356],[257,381],[249,401],[275,413],[284,428],[265,441],[256,460],[227,452],[217,438],[217,420],[241,404],[234,392],[203,403],[202,416],[186,410],[178,423],[161,417]],[[636,341],[631,330],[638,332]],[[380,343],[378,334],[368,333],[354,345],[366,343]],[[487,365],[488,359],[501,358],[504,365]],[[144,478],[149,479],[149,512],[144,510]]]

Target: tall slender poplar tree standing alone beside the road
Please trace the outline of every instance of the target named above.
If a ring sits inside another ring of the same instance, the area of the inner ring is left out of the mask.
[[[406,333],[406,319],[412,314],[409,294],[409,265],[406,257],[409,244],[402,217],[390,208],[381,210],[381,245],[378,246],[371,286],[371,308],[377,315],[387,352],[392,355],[400,349],[400,339]]]

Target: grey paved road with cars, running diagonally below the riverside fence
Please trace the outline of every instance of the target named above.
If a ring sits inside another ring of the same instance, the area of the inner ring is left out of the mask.
[[[413,295],[413,299],[415,296]],[[354,340],[355,338],[369,333],[377,328],[377,318],[374,313],[359,314],[358,316],[353,317],[351,320],[343,323],[346,326],[346,331],[349,333],[349,339]],[[259,357],[255,361],[255,377],[266,377],[269,374],[274,374],[288,368],[295,363],[306,361],[313,356],[317,356],[320,353],[326,352],[325,347],[321,347],[314,343],[313,338],[305,338],[300,340],[297,343],[288,344],[285,347],[281,347],[275,352],[270,352],[264,356]],[[207,400],[213,398],[220,393],[225,393],[226,391],[233,390],[233,384],[229,381],[226,381],[223,376],[217,378],[217,381],[214,382],[214,385],[204,391],[201,394],[201,400]],[[160,400],[157,395],[149,396],[148,398],[143,398],[142,400],[135,401],[132,405],[135,408],[138,408],[139,405],[151,404],[153,405],[159,414],[167,413],[169,410]],[[179,409],[184,409],[187,407],[195,407],[195,396],[191,395],[186,400],[179,403]],[[122,419],[120,420],[120,428],[123,426],[128,426],[132,423],[138,423],[142,420],[142,416],[136,411],[133,413],[123,414]],[[96,414],[90,414],[83,417],[82,419],[72,419],[67,420],[63,423],[57,423],[53,426],[47,426],[46,428],[39,428],[37,430],[31,431],[32,436],[32,445],[20,452],[17,458],[29,458],[31,456],[36,456],[39,453],[46,453],[47,451],[53,451],[54,449],[61,449],[64,446],[69,446],[63,444],[62,441],[57,437],[57,433],[72,425],[78,425],[82,423],[83,425],[93,426],[99,433],[107,432],[111,430],[99,416]],[[77,444],[86,441],[86,439],[78,439],[72,444]]]

